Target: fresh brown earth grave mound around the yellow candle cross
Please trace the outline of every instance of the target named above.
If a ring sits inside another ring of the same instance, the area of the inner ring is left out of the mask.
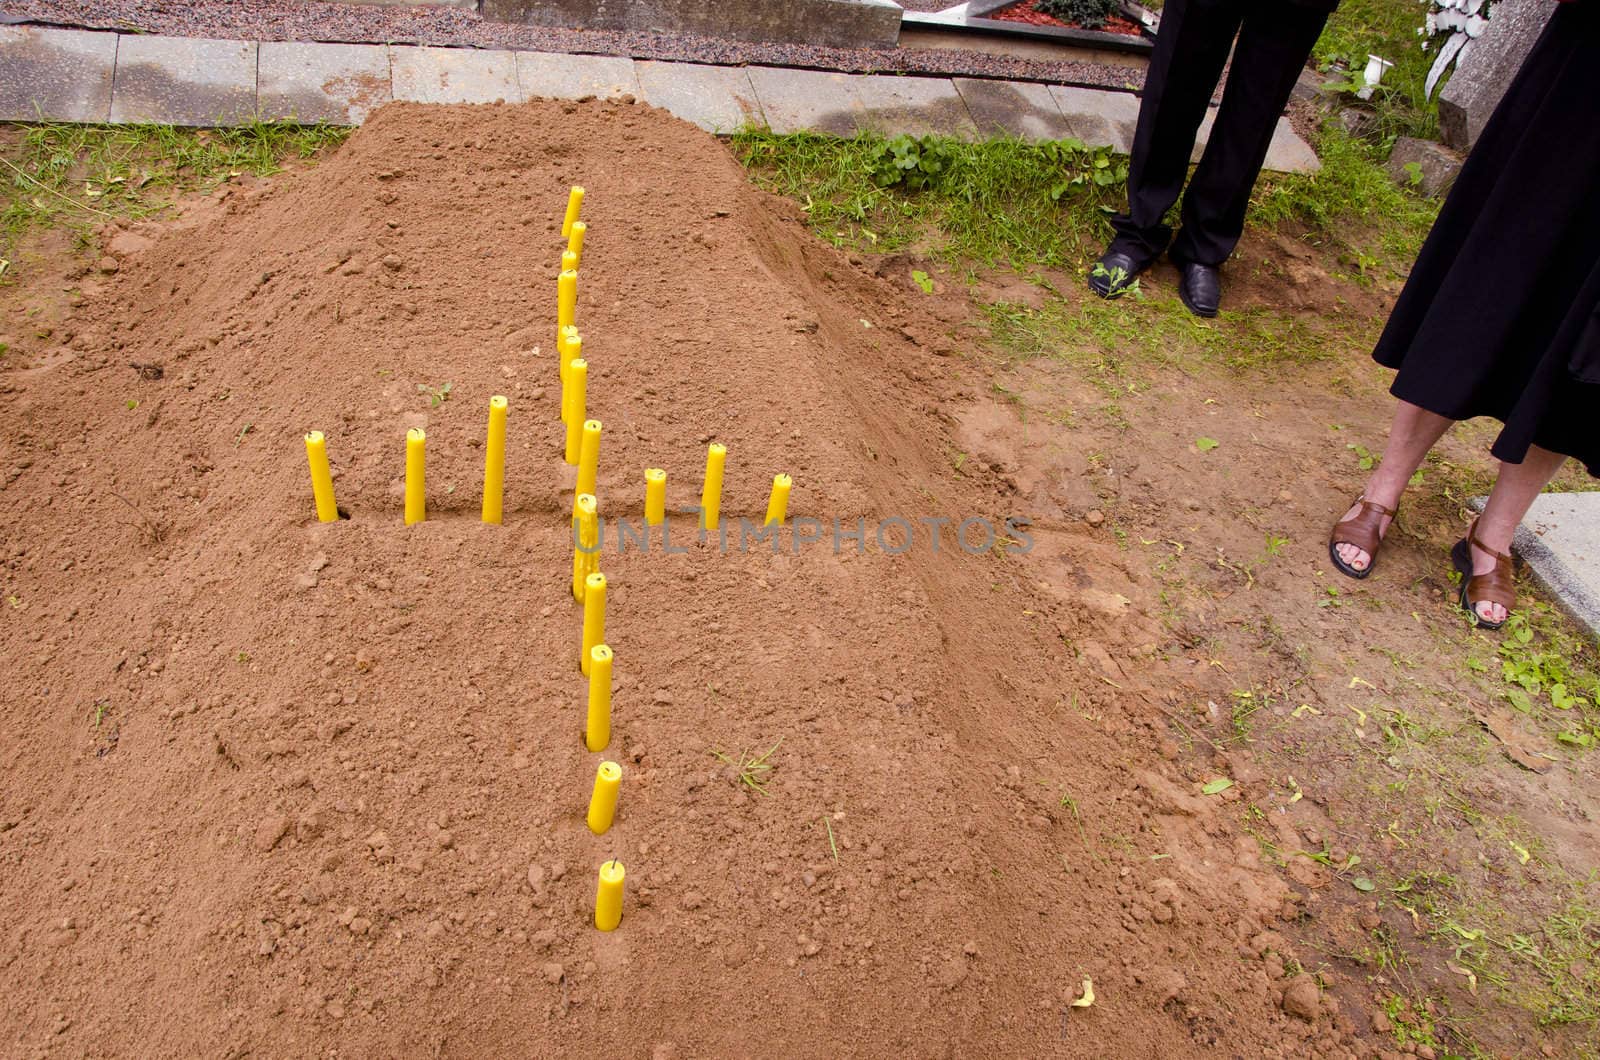
[[[637,520],[646,466],[693,503],[715,439],[730,524],[786,471],[790,512],[829,525],[723,552],[677,516],[683,551],[608,544],[602,837],[550,354],[574,183],[602,512]],[[819,245],[712,138],[635,106],[395,104],[323,165],[110,248],[0,395],[18,1052],[1347,1041],[1254,959],[1282,884],[1155,754],[1158,697],[1112,658],[1147,623],[1074,605],[1115,549],[877,538],[1003,520],[1014,484],[952,461],[965,384],[933,303]],[[501,527],[477,517],[491,394]],[[429,519],[405,527],[414,426]],[[312,519],[307,429],[346,520]],[[600,934],[608,858],[627,905]]]

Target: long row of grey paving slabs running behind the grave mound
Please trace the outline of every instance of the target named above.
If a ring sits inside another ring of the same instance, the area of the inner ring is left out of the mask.
[[[778,133],[843,136],[859,130],[962,139],[1075,136],[1118,152],[1133,143],[1139,114],[1130,93],[1030,82],[0,26],[0,120],[10,122],[358,125],[390,99],[523,102],[624,94],[712,133],[766,125]],[[1267,168],[1307,173],[1318,167],[1306,141],[1280,120]]]

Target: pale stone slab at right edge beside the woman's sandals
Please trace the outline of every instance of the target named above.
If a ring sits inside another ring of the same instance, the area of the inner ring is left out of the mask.
[[[1470,501],[1483,509],[1482,496]],[[1562,608],[1600,637],[1600,493],[1541,493],[1512,551]]]

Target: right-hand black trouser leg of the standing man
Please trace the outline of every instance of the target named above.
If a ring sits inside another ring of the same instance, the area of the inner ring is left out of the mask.
[[[1250,6],[1211,139],[1184,192],[1184,226],[1171,253],[1179,266],[1221,266],[1234,253],[1272,131],[1326,21],[1322,11],[1280,0]]]

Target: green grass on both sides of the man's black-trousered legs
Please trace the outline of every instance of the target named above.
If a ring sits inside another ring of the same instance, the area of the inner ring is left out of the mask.
[[[752,179],[802,203],[835,247],[920,248],[947,263],[1082,269],[1110,237],[1123,207],[1126,160],[1077,141],[965,143],[746,130],[733,151]],[[1330,125],[1323,168],[1264,175],[1251,224],[1296,224],[1342,248],[1365,275],[1378,255],[1410,266],[1438,207],[1397,187],[1381,151]]]

